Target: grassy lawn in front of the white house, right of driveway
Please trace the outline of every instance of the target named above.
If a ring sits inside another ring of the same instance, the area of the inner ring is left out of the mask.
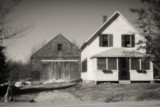
[[[66,89],[82,101],[120,102],[160,100],[160,84],[79,84]]]

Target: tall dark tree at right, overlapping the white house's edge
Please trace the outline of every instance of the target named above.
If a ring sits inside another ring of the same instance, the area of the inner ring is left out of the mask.
[[[138,18],[137,25],[141,29],[142,35],[147,39],[146,46],[141,46],[147,50],[147,53],[153,54],[153,65],[160,71],[160,0],[141,0],[145,7],[139,9],[130,9],[136,13]],[[139,41],[139,44],[144,41]]]

